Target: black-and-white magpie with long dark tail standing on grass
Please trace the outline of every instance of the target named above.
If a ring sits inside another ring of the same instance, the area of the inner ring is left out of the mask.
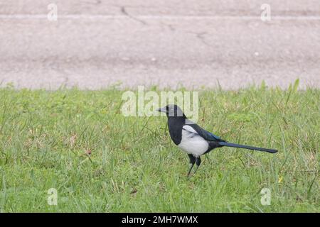
[[[188,154],[191,166],[188,169],[187,177],[190,176],[191,170],[195,164],[196,169],[193,174],[196,174],[198,167],[201,165],[201,155],[209,153],[215,148],[231,147],[258,150],[267,153],[278,152],[274,149],[228,143],[218,135],[214,135],[190,121],[176,104],[166,105],[159,108],[158,111],[165,113],[168,118],[168,129],[171,140],[174,141],[174,144],[176,144],[178,148]]]

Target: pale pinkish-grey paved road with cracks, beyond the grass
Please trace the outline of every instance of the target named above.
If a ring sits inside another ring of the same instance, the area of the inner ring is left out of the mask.
[[[0,86],[320,87],[320,1],[264,3],[0,0]]]

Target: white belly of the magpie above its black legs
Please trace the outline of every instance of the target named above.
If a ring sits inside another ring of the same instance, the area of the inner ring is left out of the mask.
[[[181,143],[178,145],[181,150],[195,157],[203,155],[209,147],[208,142],[199,135],[189,131],[182,131]]]

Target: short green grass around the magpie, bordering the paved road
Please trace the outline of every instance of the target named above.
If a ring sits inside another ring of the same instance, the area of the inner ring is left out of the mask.
[[[124,117],[122,93],[0,89],[1,211],[320,211],[319,89],[200,92],[199,125],[279,153],[219,148],[190,179],[166,118]]]

